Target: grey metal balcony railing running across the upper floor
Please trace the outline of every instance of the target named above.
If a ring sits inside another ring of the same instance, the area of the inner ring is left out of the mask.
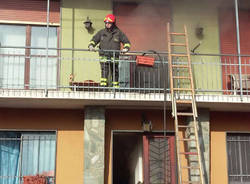
[[[117,52],[116,52],[117,53]],[[67,91],[126,91],[138,93],[162,93],[169,91],[168,55],[152,54],[152,67],[138,65],[136,55],[143,52],[120,54],[110,52],[103,60],[98,52],[86,49],[45,49],[25,47],[0,48],[0,89],[67,90]],[[192,54],[192,70],[197,94],[249,95],[250,55]],[[100,63],[105,62],[107,86],[101,86]],[[173,62],[185,64],[182,58]],[[116,70],[117,72],[112,72]],[[175,75],[186,75],[176,70]],[[118,76],[119,75],[119,76]],[[113,79],[119,80],[119,88],[113,88]],[[185,86],[180,80],[175,85]]]

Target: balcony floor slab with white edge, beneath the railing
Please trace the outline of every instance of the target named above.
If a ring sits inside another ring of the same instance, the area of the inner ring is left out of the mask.
[[[190,96],[181,95],[180,99]],[[83,109],[100,105],[107,108],[162,109],[163,93],[0,90],[0,108]],[[212,111],[250,111],[250,96],[196,95],[198,108]],[[166,94],[167,109],[171,108],[171,96]]]

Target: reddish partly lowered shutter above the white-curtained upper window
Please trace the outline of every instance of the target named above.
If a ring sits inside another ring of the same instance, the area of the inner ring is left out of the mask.
[[[50,0],[49,20],[50,23],[59,23],[59,0]],[[0,21],[47,22],[47,0],[2,1]]]

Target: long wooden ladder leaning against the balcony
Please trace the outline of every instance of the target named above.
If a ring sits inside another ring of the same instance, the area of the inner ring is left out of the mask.
[[[176,33],[170,31],[170,23],[168,23],[167,37],[172,116],[175,122],[179,183],[204,184],[197,127],[198,114],[186,26],[184,25],[184,33]],[[179,43],[181,41],[172,41],[171,38],[181,39],[184,43]],[[172,50],[178,47],[182,48],[184,53],[173,53]],[[189,117],[192,120],[191,123],[183,125],[178,122],[178,118],[184,117]],[[181,131],[184,131],[184,134],[189,134],[181,136]]]

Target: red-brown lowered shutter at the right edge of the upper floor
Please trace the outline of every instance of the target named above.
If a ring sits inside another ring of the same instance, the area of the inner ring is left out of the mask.
[[[237,54],[237,36],[235,12],[233,9],[220,10],[220,48],[221,54]],[[242,55],[250,54],[250,12],[239,10],[240,49]],[[241,57],[242,74],[250,72],[250,57]],[[222,57],[223,89],[233,90],[232,74],[239,74],[239,60],[237,56]],[[229,93],[230,94],[230,93]]]

